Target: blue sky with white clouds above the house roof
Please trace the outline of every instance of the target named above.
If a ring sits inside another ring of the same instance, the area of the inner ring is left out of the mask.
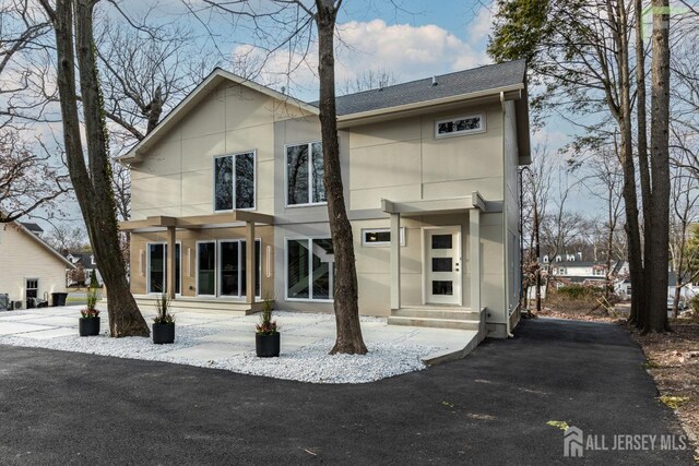
[[[196,8],[201,0],[188,1]],[[182,21],[181,4],[179,0],[123,0],[120,3],[130,14],[147,11],[151,17],[163,21]],[[380,70],[391,72],[398,82],[407,82],[490,63],[486,47],[491,14],[489,0],[345,0],[337,20],[336,82],[340,85],[363,73]],[[250,45],[261,39],[251,37],[245,28],[232,34],[227,19],[205,14],[199,17],[199,21],[188,17],[188,24],[200,34],[202,41],[211,34],[216,35],[222,53],[266,57]],[[274,38],[263,37],[262,41],[271,39]],[[289,63],[286,50],[266,58],[262,73],[254,79],[277,89],[284,85],[298,98],[316,100],[316,51],[311,45],[307,62],[292,73],[291,82],[286,77]],[[554,120],[533,134],[532,141],[533,144],[546,142],[549,153],[556,156],[572,131],[570,126]],[[583,192],[576,193],[571,208],[594,213],[596,206],[587,198]]]

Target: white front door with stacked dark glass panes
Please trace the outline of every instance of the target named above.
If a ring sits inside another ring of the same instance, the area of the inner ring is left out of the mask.
[[[425,230],[425,302],[461,304],[461,227]]]

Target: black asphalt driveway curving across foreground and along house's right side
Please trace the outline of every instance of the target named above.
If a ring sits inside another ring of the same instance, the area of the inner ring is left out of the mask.
[[[564,458],[585,434],[677,433],[626,332],[525,321],[466,359],[360,385],[0,346],[0,464],[691,464],[689,451]]]

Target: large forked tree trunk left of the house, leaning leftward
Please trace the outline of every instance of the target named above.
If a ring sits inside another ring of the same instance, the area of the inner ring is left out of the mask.
[[[47,2],[43,4],[50,11]],[[111,336],[149,336],[149,327],[129,289],[119,244],[111,166],[95,62],[92,23],[94,4],[91,0],[57,0],[56,11],[52,12],[66,155],[75,196],[106,285]],[[80,139],[76,105],[73,5],[88,167],[85,165]]]

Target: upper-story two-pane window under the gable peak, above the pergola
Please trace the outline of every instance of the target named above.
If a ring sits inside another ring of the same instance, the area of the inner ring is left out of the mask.
[[[214,210],[254,208],[254,152],[214,158]]]

